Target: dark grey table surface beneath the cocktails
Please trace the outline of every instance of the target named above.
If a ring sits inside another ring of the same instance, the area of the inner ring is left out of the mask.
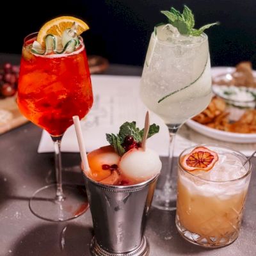
[[[4,61],[18,63],[19,56],[0,54],[0,62]],[[107,73],[140,75],[141,68],[111,65]],[[0,256],[89,256],[90,211],[75,220],[52,223],[40,220],[29,210],[28,200],[36,189],[54,181],[53,154],[37,153],[41,133],[41,129],[29,123],[0,136]],[[79,154],[65,153],[62,157],[64,182],[83,184]],[[253,172],[239,238],[216,250],[188,243],[175,228],[175,212],[152,208],[146,229],[150,256],[256,255],[255,197]]]

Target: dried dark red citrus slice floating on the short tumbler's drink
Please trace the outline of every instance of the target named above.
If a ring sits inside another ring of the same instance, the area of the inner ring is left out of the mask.
[[[196,147],[194,150],[180,159],[181,166],[189,172],[209,171],[218,161],[218,154],[205,147]]]

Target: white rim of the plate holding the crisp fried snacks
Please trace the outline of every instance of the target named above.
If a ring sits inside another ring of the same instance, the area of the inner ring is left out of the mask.
[[[212,76],[218,76],[220,74],[228,73],[234,71],[232,67],[214,67],[211,68]],[[196,132],[204,134],[210,138],[216,140],[235,142],[235,143],[255,143],[256,142],[256,133],[237,133],[237,132],[225,132],[206,125],[199,124],[193,120],[188,120],[186,124]]]

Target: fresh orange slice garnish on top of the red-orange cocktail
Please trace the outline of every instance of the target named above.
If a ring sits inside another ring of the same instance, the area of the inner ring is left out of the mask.
[[[80,35],[84,31],[89,29],[88,25],[83,20],[71,16],[61,16],[46,22],[42,26],[42,28],[40,28],[36,40],[41,45],[43,45],[46,35],[52,34],[56,36],[61,36],[63,31],[65,31],[65,29],[71,28],[74,22],[76,22],[77,35]]]

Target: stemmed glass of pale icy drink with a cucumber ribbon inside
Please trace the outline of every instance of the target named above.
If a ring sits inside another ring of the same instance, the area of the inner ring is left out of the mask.
[[[177,35],[173,28],[155,28],[148,45],[141,77],[140,95],[144,104],[168,127],[170,150],[164,184],[156,189],[152,205],[173,210],[176,188],[173,182],[175,134],[192,116],[203,111],[211,101],[211,63],[207,35]]]

